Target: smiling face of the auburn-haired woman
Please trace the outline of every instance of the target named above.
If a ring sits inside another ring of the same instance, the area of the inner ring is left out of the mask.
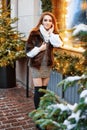
[[[52,17],[49,15],[45,15],[42,21],[42,24],[46,30],[49,30],[52,27]]]

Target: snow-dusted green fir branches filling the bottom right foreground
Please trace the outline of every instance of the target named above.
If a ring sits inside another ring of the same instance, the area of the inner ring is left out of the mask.
[[[53,92],[49,91],[50,96],[52,93]],[[82,91],[79,103],[75,103],[74,105],[59,102],[50,103],[51,100],[48,98],[46,101],[44,98],[45,95],[41,98],[40,102],[44,102],[45,100],[45,102],[49,102],[49,105],[47,107],[45,106],[45,109],[43,109],[44,107],[41,105],[37,110],[29,113],[29,116],[42,130],[87,129],[87,90]]]

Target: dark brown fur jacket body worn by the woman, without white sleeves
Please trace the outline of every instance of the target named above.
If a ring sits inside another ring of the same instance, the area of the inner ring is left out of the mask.
[[[39,30],[32,31],[27,40],[26,53],[32,50],[35,46],[40,47],[43,41],[44,41],[43,37]],[[41,51],[35,57],[31,58],[30,66],[39,69],[41,66],[41,61],[43,59],[44,53],[45,51]],[[53,46],[49,42],[47,43],[47,66],[52,67],[52,65],[53,65]]]

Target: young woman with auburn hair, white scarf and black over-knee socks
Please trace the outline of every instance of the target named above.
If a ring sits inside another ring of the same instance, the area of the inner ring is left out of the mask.
[[[62,44],[54,15],[50,12],[42,13],[37,26],[30,32],[26,46],[34,83],[34,104],[36,109],[40,97],[43,96],[39,89],[46,89],[49,82],[53,65],[53,47],[60,47]]]

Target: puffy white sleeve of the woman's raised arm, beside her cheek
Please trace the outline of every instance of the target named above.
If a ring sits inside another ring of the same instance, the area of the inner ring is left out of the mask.
[[[50,43],[53,45],[53,47],[61,47],[63,45],[59,35],[54,33],[51,33],[50,35]]]

